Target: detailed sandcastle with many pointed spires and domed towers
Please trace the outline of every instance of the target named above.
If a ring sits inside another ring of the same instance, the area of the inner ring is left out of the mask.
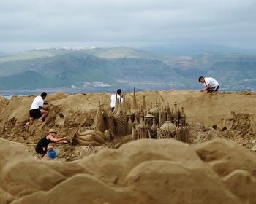
[[[123,103],[116,98],[114,111],[107,113],[100,103],[95,116],[95,129],[83,133],[76,133],[73,141],[75,144],[99,146],[111,139],[132,135],[132,140],[143,138],[165,139],[175,138],[178,141],[189,143],[189,127],[187,127],[184,108],[178,109],[174,103],[172,109],[169,104],[163,108],[162,104],[151,103],[146,107],[146,98],[138,107],[135,89],[133,92],[132,106],[127,106],[125,93]],[[89,136],[87,136],[89,135]]]

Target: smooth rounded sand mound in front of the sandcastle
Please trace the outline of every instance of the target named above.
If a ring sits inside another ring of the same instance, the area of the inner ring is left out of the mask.
[[[67,163],[3,143],[0,155],[0,203],[256,202],[255,154],[222,140],[133,141]]]

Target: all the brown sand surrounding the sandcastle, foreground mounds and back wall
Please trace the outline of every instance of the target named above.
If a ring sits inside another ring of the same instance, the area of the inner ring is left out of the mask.
[[[190,145],[124,136],[56,146],[56,161],[39,160],[33,144],[49,128],[68,138],[88,130],[110,94],[48,95],[50,114],[29,128],[22,127],[34,95],[0,96],[1,138],[12,141],[0,140],[0,203],[256,203],[256,93],[147,91],[137,93],[138,104],[143,95],[148,109],[156,100],[184,107]]]

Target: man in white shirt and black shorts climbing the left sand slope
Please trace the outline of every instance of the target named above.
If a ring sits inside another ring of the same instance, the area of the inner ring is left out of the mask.
[[[34,119],[38,117],[39,117],[39,122],[42,122],[43,119],[47,117],[48,111],[44,109],[44,104],[47,104],[44,102],[46,95],[47,93],[42,92],[41,95],[37,95],[37,97],[34,98],[34,101],[31,104],[31,107],[29,109],[29,122],[26,123],[26,126],[31,125]]]

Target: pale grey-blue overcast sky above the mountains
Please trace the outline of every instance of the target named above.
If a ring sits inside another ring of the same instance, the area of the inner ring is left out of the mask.
[[[217,44],[256,48],[255,0],[1,0],[0,51]]]

